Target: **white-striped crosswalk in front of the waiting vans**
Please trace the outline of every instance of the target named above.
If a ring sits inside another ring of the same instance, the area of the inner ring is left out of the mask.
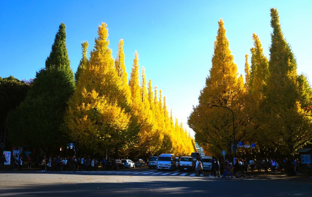
[[[61,173],[73,173],[67,172],[67,171],[62,171]],[[117,174],[117,175],[124,175],[124,174],[129,174],[129,175],[167,175],[167,176],[195,176],[196,173],[193,172],[166,172],[166,171],[76,171],[74,173],[79,173],[79,174]]]

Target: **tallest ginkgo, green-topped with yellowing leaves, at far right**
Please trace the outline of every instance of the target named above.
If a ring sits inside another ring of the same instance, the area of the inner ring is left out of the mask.
[[[312,137],[311,114],[301,108],[295,55],[283,36],[278,12],[271,8],[269,77],[264,110],[267,146],[270,151],[293,154]]]

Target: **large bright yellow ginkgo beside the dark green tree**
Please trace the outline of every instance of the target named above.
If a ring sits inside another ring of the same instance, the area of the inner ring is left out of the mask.
[[[138,131],[130,121],[130,106],[114,67],[105,23],[98,28],[90,60],[68,104],[64,128],[85,150],[104,156],[102,150],[108,149],[117,156],[136,139]]]

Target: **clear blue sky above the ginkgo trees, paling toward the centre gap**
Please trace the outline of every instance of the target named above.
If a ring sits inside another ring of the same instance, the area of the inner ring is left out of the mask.
[[[276,7],[286,41],[296,56],[298,73],[312,81],[310,57],[312,1],[5,1],[0,0],[0,76],[34,78],[45,66],[61,22],[76,72],[81,42],[93,49],[102,22],[109,28],[115,58],[124,39],[125,64],[131,72],[134,51],[147,79],[166,96],[168,110],[188,130],[187,117],[198,103],[211,68],[218,21],[223,18],[240,74],[245,54],[259,35],[269,57],[270,8]],[[193,135],[193,131],[190,131]]]

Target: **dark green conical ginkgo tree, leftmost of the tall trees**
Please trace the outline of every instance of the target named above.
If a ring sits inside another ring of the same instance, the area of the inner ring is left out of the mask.
[[[9,115],[9,139],[16,145],[46,147],[50,151],[64,145],[61,131],[67,100],[75,88],[74,74],[66,48],[65,24],[56,33],[46,67],[36,74],[32,90]]]

